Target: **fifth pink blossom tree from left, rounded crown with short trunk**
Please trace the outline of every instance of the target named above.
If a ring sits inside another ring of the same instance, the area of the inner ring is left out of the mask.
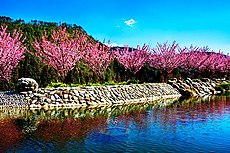
[[[174,41],[171,45],[165,42],[157,44],[150,52],[148,63],[150,67],[156,68],[164,76],[163,81],[167,81],[169,74],[178,68],[184,61],[181,54],[184,50],[178,49],[178,44]]]

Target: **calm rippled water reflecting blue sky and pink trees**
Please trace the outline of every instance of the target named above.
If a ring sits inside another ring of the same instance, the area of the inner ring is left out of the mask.
[[[229,152],[230,97],[1,110],[0,152]]]

